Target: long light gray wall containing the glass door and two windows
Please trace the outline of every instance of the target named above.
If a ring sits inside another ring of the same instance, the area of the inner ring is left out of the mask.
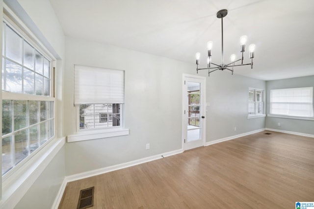
[[[75,64],[125,70],[125,127],[130,129],[129,136],[67,143],[66,175],[182,149],[182,74],[196,74],[195,65],[71,37],[65,60],[66,134],[76,132]],[[247,119],[249,87],[264,89],[265,82],[222,71],[207,78],[207,141],[264,128],[265,118]]]

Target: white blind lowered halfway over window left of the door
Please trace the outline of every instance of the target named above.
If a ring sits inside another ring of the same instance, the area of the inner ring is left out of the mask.
[[[124,103],[124,71],[75,65],[74,104]]]

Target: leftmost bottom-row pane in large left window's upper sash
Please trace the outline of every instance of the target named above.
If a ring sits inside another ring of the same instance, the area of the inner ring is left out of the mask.
[[[5,63],[5,91],[22,93],[22,67],[8,60]]]

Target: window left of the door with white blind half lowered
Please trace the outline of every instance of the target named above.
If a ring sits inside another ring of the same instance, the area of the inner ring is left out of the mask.
[[[121,127],[124,71],[75,66],[78,130]]]

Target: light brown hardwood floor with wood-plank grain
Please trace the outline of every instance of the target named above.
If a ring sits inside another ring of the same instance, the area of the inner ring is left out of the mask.
[[[91,186],[90,209],[293,209],[314,201],[314,138],[264,131],[70,182],[59,209]]]

